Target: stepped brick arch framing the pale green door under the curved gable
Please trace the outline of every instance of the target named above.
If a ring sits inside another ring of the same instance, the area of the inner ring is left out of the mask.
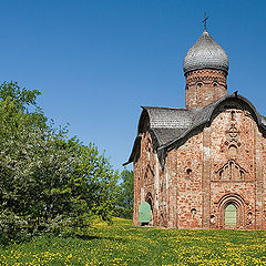
[[[233,204],[236,207],[236,227],[243,228],[245,225],[246,203],[239,194],[229,193],[224,195],[218,202],[218,227],[225,227],[225,208]]]

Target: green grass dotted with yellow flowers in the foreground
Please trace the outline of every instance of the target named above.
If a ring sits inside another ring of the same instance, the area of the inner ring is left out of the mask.
[[[266,265],[266,231],[98,224],[86,239],[39,237],[0,248],[0,265]]]

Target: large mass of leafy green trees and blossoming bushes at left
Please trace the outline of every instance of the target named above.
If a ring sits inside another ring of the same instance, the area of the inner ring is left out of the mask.
[[[2,242],[82,235],[95,217],[110,221],[113,212],[117,174],[95,145],[47,125],[39,94],[13,82],[0,86]]]

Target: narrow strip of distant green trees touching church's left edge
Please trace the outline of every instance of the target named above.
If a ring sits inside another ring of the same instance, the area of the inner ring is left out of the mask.
[[[116,198],[115,215],[122,218],[133,217],[133,202],[134,202],[134,172],[124,170],[121,173],[121,184],[119,186],[119,194]]]

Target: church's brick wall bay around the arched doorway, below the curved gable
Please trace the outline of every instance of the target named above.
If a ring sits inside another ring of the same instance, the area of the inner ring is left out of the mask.
[[[212,122],[211,227],[224,227],[227,204],[237,206],[237,227],[256,228],[257,124],[250,112],[236,103],[222,105]],[[262,173],[259,173],[262,177]],[[262,192],[260,196],[262,196]]]

